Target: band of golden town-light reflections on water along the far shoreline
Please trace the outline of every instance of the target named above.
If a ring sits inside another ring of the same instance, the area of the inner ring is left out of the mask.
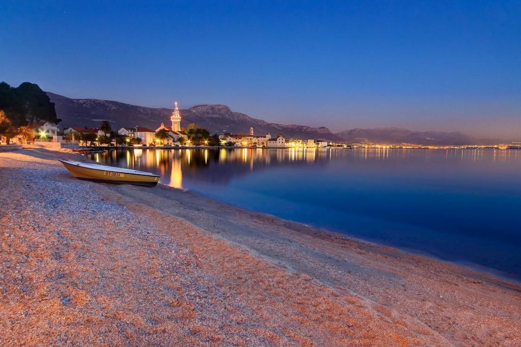
[[[505,163],[519,161],[521,151],[497,150],[497,149],[399,149],[399,148],[286,148],[286,149],[261,149],[261,148],[220,148],[213,149],[141,149],[106,151],[93,153],[90,158],[97,163],[134,168],[143,171],[154,171],[161,174],[164,183],[172,187],[182,188],[182,169],[188,166],[212,166],[215,163],[241,163],[248,164],[249,171],[263,168],[269,165],[278,165],[283,162],[301,162],[310,164],[325,162],[346,157],[363,161],[404,161],[414,156],[416,160],[431,162],[439,160],[436,151],[442,153],[443,160]],[[333,158],[334,157],[334,158]],[[421,159],[420,159],[421,158]],[[288,159],[288,160],[287,160]],[[210,170],[213,170],[213,166]],[[186,173],[185,173],[186,175]]]

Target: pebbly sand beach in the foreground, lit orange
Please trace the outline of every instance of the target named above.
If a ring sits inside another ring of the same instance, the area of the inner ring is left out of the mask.
[[[0,153],[2,345],[521,345],[521,286]]]

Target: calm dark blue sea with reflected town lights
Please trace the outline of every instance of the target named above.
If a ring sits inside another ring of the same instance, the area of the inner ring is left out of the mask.
[[[520,150],[132,149],[91,159],[521,280]]]

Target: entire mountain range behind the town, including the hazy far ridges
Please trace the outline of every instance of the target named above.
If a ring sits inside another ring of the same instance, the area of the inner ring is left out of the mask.
[[[62,119],[61,127],[100,125],[108,120],[114,129],[122,126],[146,126],[155,130],[160,123],[170,124],[172,109],[152,108],[124,104],[123,102],[100,99],[71,99],[47,92],[56,104],[58,118]],[[500,139],[476,139],[460,132],[417,132],[397,127],[354,128],[333,134],[327,127],[310,127],[305,125],[287,125],[268,123],[255,119],[247,114],[234,112],[226,105],[197,105],[181,110],[181,126],[195,123],[205,127],[212,134],[233,133],[249,134],[250,127],[255,134],[283,134],[287,138],[327,139],[345,143],[375,144],[419,144],[419,145],[466,145],[500,143]]]

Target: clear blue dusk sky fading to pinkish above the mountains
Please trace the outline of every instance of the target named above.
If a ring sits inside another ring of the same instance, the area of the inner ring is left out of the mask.
[[[521,138],[519,1],[10,1],[0,80],[270,122]]]

